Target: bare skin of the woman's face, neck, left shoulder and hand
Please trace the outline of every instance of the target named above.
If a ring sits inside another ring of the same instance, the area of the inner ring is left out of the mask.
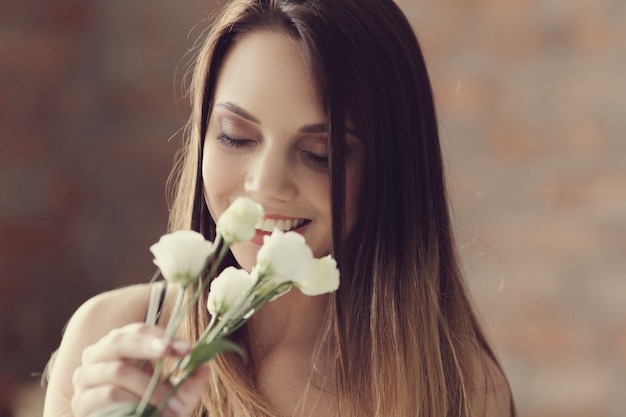
[[[315,256],[330,253],[326,120],[299,45],[275,32],[238,41],[223,64],[215,103],[202,172],[213,218],[236,197],[248,196],[263,205],[268,219],[305,219],[296,231]],[[353,190],[346,198],[349,230],[362,160],[358,139],[350,136],[347,143],[347,189]],[[263,234],[233,247],[244,269],[253,267]],[[168,289],[161,323],[167,323],[176,291]],[[44,417],[83,417],[114,402],[138,402],[151,375],[140,362],[188,352],[182,340],[164,344],[162,327],[141,323],[148,293],[147,285],[104,293],[74,314],[52,368]],[[293,290],[248,323],[258,389],[284,415],[335,414],[323,355],[316,361],[315,383],[310,383],[313,346],[326,305],[326,296]],[[167,415],[190,415],[208,376],[207,368],[199,369],[169,403]],[[159,386],[155,402],[168,388]]]

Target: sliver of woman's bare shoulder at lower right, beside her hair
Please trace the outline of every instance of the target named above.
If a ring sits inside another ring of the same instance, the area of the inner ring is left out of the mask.
[[[477,355],[473,361],[473,417],[514,417],[509,382],[501,367],[489,355]]]

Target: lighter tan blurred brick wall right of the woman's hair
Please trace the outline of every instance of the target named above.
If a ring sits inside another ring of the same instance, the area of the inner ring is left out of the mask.
[[[626,2],[401,2],[523,416],[626,415]]]

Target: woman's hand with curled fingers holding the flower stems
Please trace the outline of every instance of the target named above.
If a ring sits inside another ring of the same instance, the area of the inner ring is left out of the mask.
[[[153,369],[146,361],[166,356],[182,357],[190,350],[190,345],[183,340],[174,339],[166,343],[163,337],[164,330],[161,328],[133,323],[112,330],[87,347],[72,378],[74,417],[86,417],[117,402],[139,403],[152,377]],[[191,415],[208,377],[207,366],[198,368],[168,401],[164,415]],[[159,382],[151,403],[160,404],[170,388],[169,383]]]

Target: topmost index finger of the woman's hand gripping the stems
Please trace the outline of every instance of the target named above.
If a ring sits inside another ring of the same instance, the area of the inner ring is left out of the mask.
[[[163,330],[143,323],[135,323],[109,332],[97,343],[83,351],[83,363],[117,359],[154,360],[166,355],[182,356],[190,350],[186,341],[163,338]]]

